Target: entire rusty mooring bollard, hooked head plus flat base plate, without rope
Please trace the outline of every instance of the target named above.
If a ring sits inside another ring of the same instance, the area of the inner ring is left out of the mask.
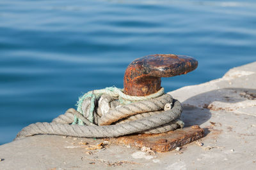
[[[129,64],[124,74],[124,93],[130,96],[148,96],[161,89],[161,77],[186,74],[196,69],[193,57],[174,54],[147,55]],[[197,127],[197,128],[194,128]],[[204,137],[198,125],[161,134],[137,134],[113,138],[114,143],[136,147],[146,146],[155,152],[168,152]]]

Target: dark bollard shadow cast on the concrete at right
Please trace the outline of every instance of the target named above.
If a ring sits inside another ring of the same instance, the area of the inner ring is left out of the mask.
[[[202,125],[212,117],[211,107],[209,107],[212,102],[238,103],[245,100],[256,100],[256,89],[225,88],[212,90],[190,97],[184,101],[182,103],[184,110],[180,118],[184,121],[185,127]],[[205,129],[205,136],[209,132],[211,132],[209,129]]]

